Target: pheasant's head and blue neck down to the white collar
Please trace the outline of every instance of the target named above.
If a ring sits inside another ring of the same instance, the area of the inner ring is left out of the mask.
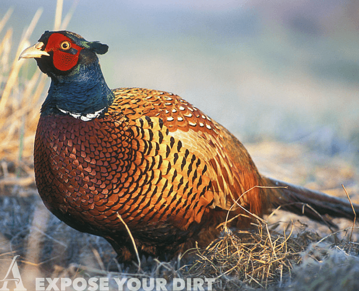
[[[70,31],[45,31],[38,42],[19,57],[34,58],[51,78],[42,114],[70,114],[91,120],[113,101],[96,54],[105,54],[106,44],[87,41]]]

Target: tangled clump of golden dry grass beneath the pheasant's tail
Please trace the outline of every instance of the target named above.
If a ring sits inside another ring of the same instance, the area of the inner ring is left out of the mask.
[[[220,289],[229,286],[267,288],[282,282],[283,274],[290,273],[300,261],[300,252],[308,241],[297,241],[290,236],[272,232],[238,232],[226,234],[197,254],[187,275],[216,278]]]

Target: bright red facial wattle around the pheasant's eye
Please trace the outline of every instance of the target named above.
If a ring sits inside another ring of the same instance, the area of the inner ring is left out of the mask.
[[[53,52],[53,65],[60,71],[68,71],[76,66],[82,49],[61,33],[51,34],[45,47],[46,52]]]

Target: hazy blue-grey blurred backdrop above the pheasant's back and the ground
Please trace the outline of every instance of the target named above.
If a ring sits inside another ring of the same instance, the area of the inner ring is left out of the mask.
[[[0,17],[14,8],[17,43],[43,7],[35,43],[55,6],[2,0]],[[109,45],[100,62],[111,88],[174,92],[244,142],[305,143],[358,163],[358,16],[354,0],[80,0],[68,30]]]

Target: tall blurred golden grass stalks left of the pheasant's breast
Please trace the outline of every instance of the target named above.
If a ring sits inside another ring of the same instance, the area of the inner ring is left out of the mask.
[[[17,160],[22,160],[30,158],[32,154],[34,131],[40,107],[39,100],[46,78],[36,72],[30,80],[25,80],[21,74],[24,61],[18,61],[17,58],[22,50],[30,45],[28,39],[41,13],[41,10],[36,12],[16,50],[13,50],[11,40],[12,28],[7,30],[1,41],[0,155],[2,157],[17,156]],[[9,60],[10,51],[16,52],[12,62]]]

